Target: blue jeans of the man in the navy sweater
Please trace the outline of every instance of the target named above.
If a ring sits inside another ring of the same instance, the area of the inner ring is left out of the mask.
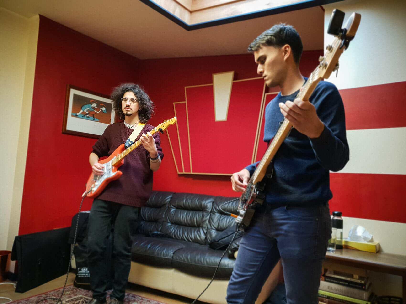
[[[330,237],[328,203],[262,206],[240,241],[227,287],[227,303],[255,303],[262,285],[281,259],[287,303],[317,304]]]

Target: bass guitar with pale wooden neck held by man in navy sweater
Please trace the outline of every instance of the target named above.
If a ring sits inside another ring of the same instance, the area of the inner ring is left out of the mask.
[[[337,21],[338,19],[338,21]],[[311,73],[309,79],[304,83],[302,90],[298,93],[296,98],[303,101],[309,101],[311,94],[319,83],[320,80],[328,78],[333,71],[338,71],[338,59],[343,53],[344,49],[348,48],[350,41],[354,38],[361,21],[361,15],[352,13],[344,28],[341,28],[344,13],[339,10],[333,11],[333,17],[330,20],[328,33],[336,36],[331,45],[326,46],[326,53],[320,56],[320,64]],[[337,26],[338,23],[338,26]],[[261,161],[258,163],[257,168],[248,181],[245,191],[240,197],[238,205],[238,214],[232,214],[240,230],[245,230],[251,223],[251,219],[255,210],[261,206],[265,199],[263,188],[265,186],[266,178],[272,177],[273,165],[272,159],[276,152],[285,140],[292,128],[292,124],[286,118],[283,119],[276,135],[272,138],[265,154]]]

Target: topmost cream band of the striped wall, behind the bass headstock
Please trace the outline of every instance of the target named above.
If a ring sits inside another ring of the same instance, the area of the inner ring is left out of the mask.
[[[346,13],[344,24],[352,12],[361,14],[356,36],[340,57],[339,77],[336,78],[333,73],[328,81],[339,90],[406,81],[406,1],[345,2],[323,6],[325,33],[333,9]],[[333,39],[333,36],[325,34],[324,45]]]

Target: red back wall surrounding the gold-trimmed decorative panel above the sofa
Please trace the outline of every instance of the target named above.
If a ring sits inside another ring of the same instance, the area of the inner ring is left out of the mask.
[[[315,69],[322,53],[323,50],[304,52],[300,64],[304,76],[308,76]],[[173,103],[185,101],[185,86],[212,83],[212,74],[214,73],[235,71],[234,80],[259,77],[257,64],[252,54],[142,60],[140,70],[143,75],[141,83],[157,106],[157,113],[153,118],[154,123],[159,123],[161,120],[175,115]],[[246,123],[244,117],[241,118],[241,121]],[[252,123],[257,124],[257,121]],[[171,134],[174,132],[176,131]],[[221,145],[221,138],[226,135],[213,134],[213,136],[215,138],[213,153],[217,153],[216,145]],[[161,168],[154,173],[155,190],[239,196],[238,193],[232,191],[229,176],[178,175],[168,137],[163,135],[161,138],[165,158]],[[242,144],[244,142],[236,142],[234,146],[222,150],[230,154],[238,153],[238,146]],[[235,171],[241,169],[242,167],[235,167]]]

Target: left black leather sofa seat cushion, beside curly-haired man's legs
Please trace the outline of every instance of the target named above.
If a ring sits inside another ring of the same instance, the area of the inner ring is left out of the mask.
[[[131,259],[151,266],[172,267],[173,254],[184,246],[173,239],[136,234],[133,237]]]

